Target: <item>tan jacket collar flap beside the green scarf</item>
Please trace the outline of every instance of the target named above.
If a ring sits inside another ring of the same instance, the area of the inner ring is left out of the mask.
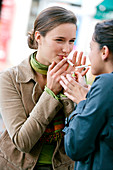
[[[30,65],[30,56],[29,58],[22,61],[17,67],[16,67],[16,81],[18,83],[26,83],[29,82],[31,79],[35,81],[35,74],[33,69]]]

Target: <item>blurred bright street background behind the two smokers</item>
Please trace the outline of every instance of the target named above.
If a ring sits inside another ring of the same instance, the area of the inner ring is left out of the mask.
[[[73,50],[83,51],[86,56],[95,24],[113,19],[113,0],[1,0],[0,71],[19,64],[30,55],[32,50],[27,46],[27,33],[32,30],[38,13],[54,5],[70,9],[77,16],[77,39]],[[91,84],[94,77],[90,71],[87,78]],[[3,129],[0,116],[0,134]]]

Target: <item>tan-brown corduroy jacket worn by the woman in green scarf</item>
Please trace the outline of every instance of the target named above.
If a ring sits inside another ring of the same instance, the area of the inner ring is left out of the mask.
[[[42,91],[30,66],[29,58],[0,73],[0,108],[6,129],[0,137],[1,170],[33,170],[43,143],[39,138],[58,112],[68,116],[73,102],[59,102]],[[52,157],[54,170],[72,170],[74,162],[65,154],[59,140]]]

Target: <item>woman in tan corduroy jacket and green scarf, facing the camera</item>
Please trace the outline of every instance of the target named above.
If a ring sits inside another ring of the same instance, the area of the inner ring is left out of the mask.
[[[64,58],[73,49],[76,22],[65,8],[44,9],[28,36],[29,47],[36,51],[1,73],[0,107],[6,131],[0,138],[0,169],[73,169],[74,162],[64,151],[62,129],[74,103],[62,94],[59,80],[67,69],[73,70]],[[77,52],[73,63],[76,57]],[[77,65],[81,59],[82,53]]]

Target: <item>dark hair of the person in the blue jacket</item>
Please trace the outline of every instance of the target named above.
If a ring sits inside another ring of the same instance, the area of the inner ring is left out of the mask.
[[[93,39],[100,45],[100,49],[107,46],[113,53],[113,19],[97,23]]]

